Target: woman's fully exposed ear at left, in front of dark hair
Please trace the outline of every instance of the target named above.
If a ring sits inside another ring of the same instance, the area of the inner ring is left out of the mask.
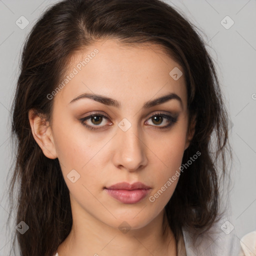
[[[28,110],[28,119],[33,137],[42,149],[43,154],[50,159],[57,158],[52,131],[48,121],[45,121],[45,118],[39,116],[33,109]]]

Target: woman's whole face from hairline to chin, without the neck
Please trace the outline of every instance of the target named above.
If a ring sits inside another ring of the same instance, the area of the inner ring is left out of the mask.
[[[48,95],[51,132],[41,148],[60,162],[73,217],[139,228],[163,212],[178,178],[166,183],[179,172],[192,136],[185,79],[157,45],[102,42],[76,53],[68,77]],[[94,99],[79,97],[85,93]],[[137,181],[149,189],[106,189]]]

